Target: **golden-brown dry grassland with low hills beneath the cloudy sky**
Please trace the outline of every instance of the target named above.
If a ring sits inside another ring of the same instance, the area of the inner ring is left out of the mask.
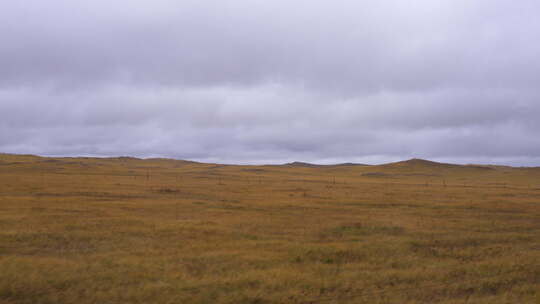
[[[0,303],[540,303],[540,168],[0,155]]]

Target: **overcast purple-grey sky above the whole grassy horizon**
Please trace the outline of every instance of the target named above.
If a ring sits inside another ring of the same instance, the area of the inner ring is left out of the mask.
[[[0,2],[0,152],[540,166],[536,0]]]

